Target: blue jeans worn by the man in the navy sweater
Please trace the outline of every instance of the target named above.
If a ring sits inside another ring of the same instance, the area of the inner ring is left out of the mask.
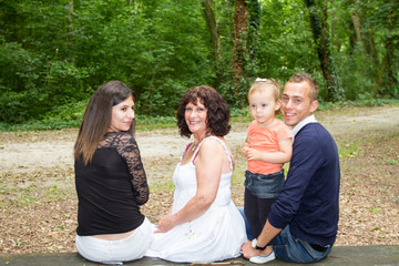
[[[289,225],[287,225],[275,238],[274,252],[279,258],[291,263],[315,263],[331,253],[332,247],[327,246],[327,250],[315,250],[309,243],[298,239],[289,232]]]

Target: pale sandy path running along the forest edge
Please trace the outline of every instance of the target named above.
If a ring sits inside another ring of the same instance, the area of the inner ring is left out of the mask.
[[[378,131],[399,132],[399,106],[395,105],[324,111],[316,113],[316,117],[336,140],[350,140],[351,135]],[[246,126],[244,123],[233,124],[232,132],[226,136],[233,151],[238,151],[245,141]],[[72,149],[76,133],[75,129],[0,133],[0,173],[73,167]],[[178,135],[176,129],[140,131],[136,140],[144,162],[176,162],[188,142]]]

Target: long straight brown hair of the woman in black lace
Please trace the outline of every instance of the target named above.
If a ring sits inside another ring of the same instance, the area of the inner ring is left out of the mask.
[[[91,162],[93,154],[111,125],[112,108],[132,96],[135,96],[125,83],[110,81],[99,86],[91,96],[79,129],[78,139],[74,144],[74,158],[83,158],[84,165]],[[134,134],[135,121],[129,130]]]

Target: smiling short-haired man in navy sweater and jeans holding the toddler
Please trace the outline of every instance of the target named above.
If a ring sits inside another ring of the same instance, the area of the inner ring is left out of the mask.
[[[282,109],[293,127],[293,157],[284,187],[273,204],[257,239],[243,245],[246,258],[264,257],[275,238],[277,257],[295,263],[325,258],[338,231],[340,167],[332,136],[314,115],[318,106],[316,81],[293,75],[284,88]]]

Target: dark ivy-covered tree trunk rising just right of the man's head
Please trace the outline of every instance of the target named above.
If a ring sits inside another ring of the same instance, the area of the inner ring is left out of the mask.
[[[344,91],[339,84],[339,76],[332,62],[328,32],[328,0],[305,0],[309,11],[310,25],[316,43],[317,55],[320,61],[323,76],[327,85],[327,101],[340,101]]]

